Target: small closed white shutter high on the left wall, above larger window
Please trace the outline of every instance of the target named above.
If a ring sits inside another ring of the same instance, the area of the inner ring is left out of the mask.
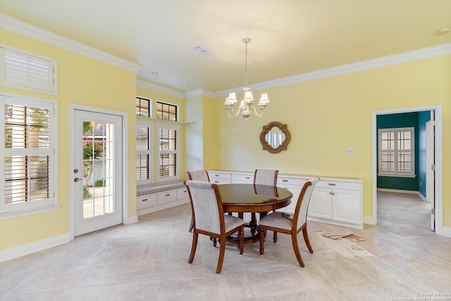
[[[56,61],[1,47],[1,85],[56,94]]]

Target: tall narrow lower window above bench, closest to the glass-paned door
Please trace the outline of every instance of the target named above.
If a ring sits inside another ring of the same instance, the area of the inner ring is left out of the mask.
[[[152,123],[137,122],[136,182],[137,185],[152,183]]]

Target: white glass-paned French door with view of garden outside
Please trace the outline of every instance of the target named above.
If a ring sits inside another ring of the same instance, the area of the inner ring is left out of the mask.
[[[123,223],[122,117],[73,111],[74,236]]]

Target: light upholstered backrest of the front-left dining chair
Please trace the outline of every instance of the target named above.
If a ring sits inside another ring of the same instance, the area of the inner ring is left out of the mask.
[[[194,216],[194,228],[221,234],[224,211],[217,184],[187,180],[185,183]]]

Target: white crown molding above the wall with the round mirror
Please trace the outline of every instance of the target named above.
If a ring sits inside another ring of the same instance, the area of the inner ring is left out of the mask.
[[[403,52],[401,54],[392,54],[390,56],[382,56],[376,59],[359,61],[356,63],[348,63],[342,66],[326,68],[308,73],[288,76],[287,78],[278,78],[276,80],[268,80],[266,82],[257,82],[252,85],[252,90],[264,90],[271,87],[280,87],[283,85],[292,85],[298,82],[307,82],[309,80],[318,80],[320,78],[329,78],[331,76],[342,75],[346,73],[354,73],[362,70],[380,68],[384,66],[405,63],[408,61],[417,61],[420,59],[428,59],[435,56],[445,56],[451,54],[451,43],[441,44],[438,46],[417,49],[413,51]],[[242,87],[215,92],[216,97],[227,96],[230,92],[241,92]]]

